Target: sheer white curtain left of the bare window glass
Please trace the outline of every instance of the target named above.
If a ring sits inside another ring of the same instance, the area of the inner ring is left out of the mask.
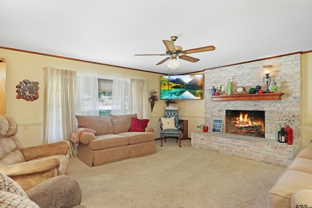
[[[98,115],[98,75],[77,72],[77,114]]]

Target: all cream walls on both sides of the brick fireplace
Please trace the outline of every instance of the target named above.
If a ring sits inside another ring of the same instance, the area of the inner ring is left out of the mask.
[[[118,67],[104,66],[99,64],[86,63],[64,58],[49,57],[31,53],[19,52],[0,48],[0,57],[6,61],[6,114],[13,116],[20,126],[19,135],[31,135],[27,143],[34,145],[35,136],[33,132],[42,134],[43,126],[43,67],[55,67],[59,69],[91,72],[104,76],[142,78],[149,81],[149,90],[155,89],[159,94],[160,74],[148,73],[137,70],[129,70]],[[311,147],[309,140],[312,139],[312,53],[301,55],[302,63],[302,141],[303,147]],[[16,98],[16,86],[20,81],[29,79],[39,82],[39,99],[33,102]],[[206,89],[209,90],[209,89]],[[310,105],[309,105],[310,104]],[[165,101],[156,102],[153,112],[150,112],[151,126],[155,128],[156,138],[160,137],[159,117],[163,116]],[[205,121],[204,100],[178,100],[179,117],[189,120],[188,137],[191,132],[200,131],[197,125]],[[27,130],[24,130],[24,127]],[[37,129],[35,127],[38,127]],[[31,131],[31,132],[21,132]],[[42,134],[43,135],[43,134]],[[39,136],[39,137],[40,137]],[[21,139],[21,138],[20,138]],[[25,140],[26,141],[26,140]],[[42,137],[37,138],[37,143],[42,142]],[[183,142],[182,142],[183,145]]]

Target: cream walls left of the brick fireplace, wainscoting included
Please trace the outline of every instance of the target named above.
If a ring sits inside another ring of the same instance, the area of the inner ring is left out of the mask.
[[[65,70],[96,73],[102,76],[141,78],[149,81],[149,90],[155,89],[159,95],[160,74],[129,70],[112,66],[49,57],[0,48],[0,57],[6,61],[6,114],[15,118],[20,129],[19,138],[26,146],[42,144],[43,135],[43,67],[54,67]],[[28,79],[39,82],[39,98],[35,101],[25,101],[16,98],[16,86],[20,81]],[[196,125],[204,122],[204,100],[180,100],[178,106],[181,119],[189,119],[189,133],[198,131]],[[153,112],[150,112],[150,125],[154,127],[156,138],[160,137],[159,117],[163,116],[165,101],[156,102]],[[171,104],[173,105],[173,104]],[[34,136],[38,132],[38,136]],[[29,135],[29,136],[28,136]],[[23,137],[23,138],[21,138]],[[31,141],[36,140],[36,141]]]

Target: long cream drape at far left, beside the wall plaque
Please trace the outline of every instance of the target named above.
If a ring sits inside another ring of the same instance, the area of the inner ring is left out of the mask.
[[[76,72],[44,67],[43,142],[68,140],[76,129]],[[77,155],[70,141],[71,156]]]

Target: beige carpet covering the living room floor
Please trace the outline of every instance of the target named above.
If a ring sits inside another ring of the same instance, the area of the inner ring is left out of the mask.
[[[265,208],[285,168],[191,147],[169,138],[156,153],[98,167],[70,158],[87,208]]]

